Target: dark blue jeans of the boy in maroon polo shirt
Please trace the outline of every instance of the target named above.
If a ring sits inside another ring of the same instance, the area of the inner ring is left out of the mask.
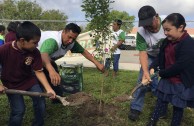
[[[42,89],[38,84],[32,86],[28,91],[32,92],[42,92]],[[7,94],[11,113],[9,118],[8,126],[21,126],[23,116],[25,113],[24,98],[22,95],[18,94]],[[45,116],[45,98],[43,97],[31,97],[34,108],[34,120],[32,126],[43,126],[44,116]]]

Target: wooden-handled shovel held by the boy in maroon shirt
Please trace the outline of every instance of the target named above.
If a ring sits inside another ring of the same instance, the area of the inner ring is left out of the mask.
[[[42,93],[42,92],[31,92],[31,91],[23,91],[23,90],[15,90],[15,89],[6,89],[6,94],[20,94],[20,95],[26,95],[26,96],[36,96],[36,97],[50,97],[52,94],[49,93]],[[61,97],[56,95],[56,99],[58,99],[63,106],[67,106],[70,103],[66,100],[66,97]]]

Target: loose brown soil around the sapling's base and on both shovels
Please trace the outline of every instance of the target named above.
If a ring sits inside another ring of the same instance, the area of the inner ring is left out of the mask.
[[[113,103],[104,103],[96,100],[90,94],[78,92],[67,96],[66,100],[70,102],[70,106],[77,106],[75,119],[79,119],[79,126],[112,126],[126,125],[120,124],[125,122],[120,112],[125,113],[121,107],[116,106],[115,102],[127,101],[128,96],[123,95],[113,98]],[[127,115],[126,115],[127,117]],[[78,124],[72,124],[77,126]]]

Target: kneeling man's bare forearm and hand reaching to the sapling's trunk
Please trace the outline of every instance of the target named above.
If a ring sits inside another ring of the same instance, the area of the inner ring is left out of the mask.
[[[97,69],[100,70],[101,72],[104,72],[104,65],[103,64],[100,64],[100,62],[98,62],[96,59],[94,59],[94,57],[87,51],[87,50],[84,50],[84,52],[82,53],[82,55],[88,59],[89,61],[93,62]]]

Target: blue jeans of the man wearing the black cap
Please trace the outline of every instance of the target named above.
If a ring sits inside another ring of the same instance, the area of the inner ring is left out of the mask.
[[[155,58],[153,58],[153,57],[148,57],[148,65],[149,66],[153,62],[154,59]],[[138,77],[138,84],[142,81],[142,76],[143,76],[143,70],[142,70],[142,68],[140,68],[139,77]],[[143,105],[144,105],[145,93],[147,91],[151,90],[155,94],[157,85],[158,85],[158,77],[154,77],[154,78],[152,78],[152,82],[150,85],[137,89],[134,92],[134,99],[131,101],[130,108],[138,110],[138,111],[142,111]]]

